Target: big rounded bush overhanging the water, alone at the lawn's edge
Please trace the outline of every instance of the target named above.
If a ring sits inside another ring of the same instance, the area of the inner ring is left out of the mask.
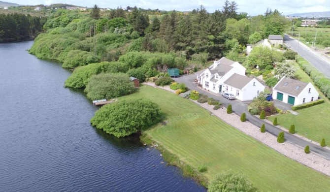
[[[162,120],[160,107],[145,98],[116,101],[101,107],[91,124],[116,137],[136,133]]]

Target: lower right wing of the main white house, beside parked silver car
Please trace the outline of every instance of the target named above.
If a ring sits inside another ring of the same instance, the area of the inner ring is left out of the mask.
[[[257,79],[234,73],[223,84],[223,90],[230,92],[239,100],[252,100],[264,91],[264,85]]]

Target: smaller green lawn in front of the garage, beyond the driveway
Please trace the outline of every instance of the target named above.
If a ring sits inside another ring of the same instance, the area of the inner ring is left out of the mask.
[[[307,136],[307,138],[321,142],[322,138],[330,144],[330,104],[322,103],[309,108],[297,110],[299,115],[291,113],[281,114],[269,117],[273,121],[277,117],[277,122],[281,127],[289,129],[291,125],[295,125],[297,134]],[[307,135],[306,135],[307,133]]]

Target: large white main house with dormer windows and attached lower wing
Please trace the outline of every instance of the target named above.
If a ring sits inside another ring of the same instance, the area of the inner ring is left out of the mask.
[[[245,70],[238,62],[223,57],[200,74],[197,73],[197,79],[202,88],[208,91],[217,94],[229,92],[237,99],[252,100],[265,87],[257,79],[245,76]]]

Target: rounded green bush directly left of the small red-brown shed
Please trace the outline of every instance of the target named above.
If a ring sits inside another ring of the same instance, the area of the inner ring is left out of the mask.
[[[91,77],[85,92],[92,100],[110,99],[131,94],[135,90],[130,77],[124,73],[101,73]]]

